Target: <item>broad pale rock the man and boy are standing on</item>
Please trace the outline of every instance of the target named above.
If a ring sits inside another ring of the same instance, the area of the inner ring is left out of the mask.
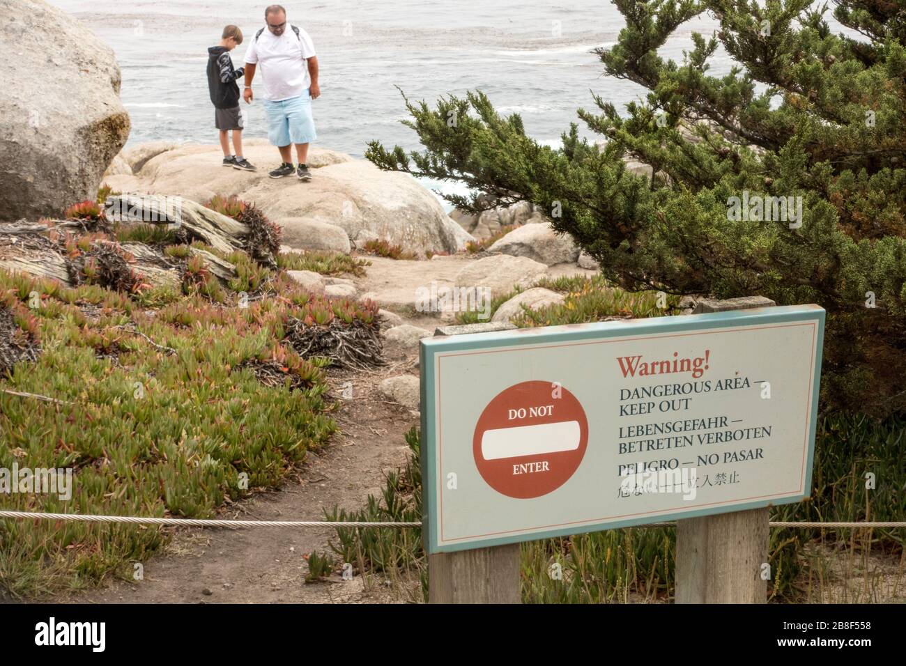
[[[246,140],[245,148],[246,159],[258,167],[256,172],[223,169],[219,147],[209,145],[183,144],[161,150],[143,164],[136,157],[138,147],[123,157],[127,162],[131,159],[140,191],[195,201],[236,194],[254,201],[286,229],[284,243],[300,249],[311,248],[302,245],[307,243],[306,236],[292,237],[300,218],[340,227],[349,242],[373,234],[419,256],[429,251],[456,252],[473,240],[428,189],[406,174],[381,171],[367,160],[312,148],[310,182],[270,179],[267,172],[279,160],[277,150],[266,140]]]

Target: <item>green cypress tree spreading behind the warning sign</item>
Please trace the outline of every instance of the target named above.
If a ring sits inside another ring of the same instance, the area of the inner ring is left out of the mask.
[[[626,27],[596,53],[647,92],[622,114],[598,95],[578,111],[601,140],[573,123],[562,148],[539,145],[481,92],[434,108],[404,95],[425,150],[372,141],[367,157],[463,182],[473,195],[446,196],[458,208],[487,206],[481,193],[545,208],[628,289],[821,304],[825,405],[906,412],[906,5],[838,0],[854,39],[812,0],[614,2]],[[662,58],[705,12],[718,31],[693,34],[680,63]],[[708,73],[718,44],[734,61],[719,77]],[[779,198],[794,203],[786,219]]]

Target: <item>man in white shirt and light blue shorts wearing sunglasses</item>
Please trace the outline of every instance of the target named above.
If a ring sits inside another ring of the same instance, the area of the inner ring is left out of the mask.
[[[286,24],[286,10],[280,5],[265,9],[266,28],[255,34],[246,51],[246,90],[243,99],[255,99],[252,79],[260,68],[264,82],[268,139],[280,149],[283,160],[270,172],[274,179],[291,176],[311,180],[305,160],[308,144],[317,139],[312,118],[312,100],[318,98],[318,59],[312,38],[301,28]],[[287,29],[289,28],[289,29]],[[293,167],[293,147],[299,166]]]

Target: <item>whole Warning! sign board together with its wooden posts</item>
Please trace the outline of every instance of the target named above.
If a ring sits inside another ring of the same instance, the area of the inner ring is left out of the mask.
[[[708,308],[422,339],[432,603],[518,603],[522,541],[670,519],[678,602],[765,600],[766,507],[811,488],[824,310]]]

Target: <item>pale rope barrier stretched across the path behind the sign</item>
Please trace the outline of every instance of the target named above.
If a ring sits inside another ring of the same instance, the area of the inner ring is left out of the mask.
[[[0,518],[32,518],[43,520],[63,520],[82,523],[126,523],[139,525],[183,526],[183,527],[420,527],[421,523],[364,522],[364,521],[331,521],[331,520],[217,520],[215,518],[152,518],[141,516],[90,516],[83,514],[44,514],[29,511],[0,511]],[[841,528],[896,528],[906,527],[901,522],[867,522],[867,523],[793,523],[771,521],[772,527],[841,527]],[[636,527],[673,527],[675,522],[649,523]]]

